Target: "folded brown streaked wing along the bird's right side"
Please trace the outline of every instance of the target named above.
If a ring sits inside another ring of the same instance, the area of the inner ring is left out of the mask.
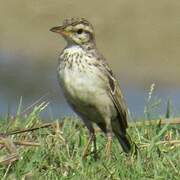
[[[102,59],[102,58],[101,58]],[[118,119],[120,122],[120,125],[122,127],[122,130],[125,130],[128,127],[127,124],[127,107],[125,104],[125,101],[123,99],[123,95],[121,93],[119,84],[113,75],[112,70],[110,69],[109,65],[105,60],[99,62],[99,67],[103,71],[103,73],[106,75],[108,79],[108,92],[109,95],[117,109],[118,112]]]

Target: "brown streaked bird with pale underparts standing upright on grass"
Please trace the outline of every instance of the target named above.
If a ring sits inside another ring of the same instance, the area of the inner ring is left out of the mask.
[[[107,137],[106,157],[111,153],[113,134],[125,154],[131,153],[127,105],[115,75],[97,48],[93,25],[85,18],[75,17],[65,19],[50,31],[67,43],[58,58],[57,77],[67,102],[89,131],[82,157],[88,155],[91,143],[97,153],[94,124]]]

